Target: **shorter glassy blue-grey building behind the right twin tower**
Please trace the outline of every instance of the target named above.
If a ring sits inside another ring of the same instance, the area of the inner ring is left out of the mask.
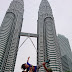
[[[72,52],[68,39],[58,34],[58,42],[60,45],[62,69],[65,71],[72,71]]]

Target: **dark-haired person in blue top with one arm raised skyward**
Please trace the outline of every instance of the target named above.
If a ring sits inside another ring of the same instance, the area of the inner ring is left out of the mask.
[[[28,72],[28,71],[36,72],[44,63],[47,63],[47,62],[43,62],[41,65],[33,66],[33,65],[29,64],[29,58],[30,58],[30,57],[28,57],[27,64],[24,63],[24,64],[22,64],[22,66],[21,66],[21,68],[22,68],[23,70],[26,69],[26,72]]]

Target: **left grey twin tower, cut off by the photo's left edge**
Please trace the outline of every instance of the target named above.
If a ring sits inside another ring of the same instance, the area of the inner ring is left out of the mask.
[[[14,72],[20,32],[23,22],[24,2],[13,0],[0,27],[0,72]]]

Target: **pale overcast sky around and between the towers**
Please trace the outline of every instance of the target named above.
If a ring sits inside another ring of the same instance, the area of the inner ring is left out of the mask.
[[[0,0],[0,25],[3,21],[5,13],[12,0]],[[56,33],[64,35],[68,38],[72,50],[72,0],[48,0],[54,16]],[[37,34],[38,10],[41,0],[24,0],[24,20],[22,32]],[[20,37],[19,46],[27,37]],[[37,48],[37,39],[31,38]],[[21,64],[29,62],[36,65],[36,49],[32,45],[30,39],[22,45],[18,50],[16,65],[14,72],[21,72]]]

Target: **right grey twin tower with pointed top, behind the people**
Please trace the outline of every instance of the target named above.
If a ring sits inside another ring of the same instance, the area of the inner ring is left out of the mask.
[[[50,59],[47,67],[53,72],[62,72],[59,44],[56,36],[52,9],[47,0],[42,0],[38,12],[38,39],[37,39],[37,64]],[[41,67],[39,72],[44,72]]]

